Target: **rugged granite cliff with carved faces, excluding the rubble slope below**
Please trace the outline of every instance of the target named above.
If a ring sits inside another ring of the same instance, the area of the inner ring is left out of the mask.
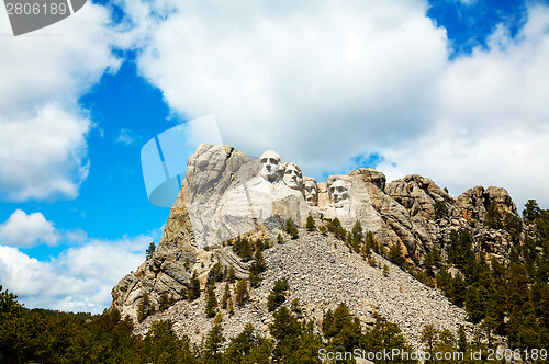
[[[326,182],[304,180],[298,166],[284,163],[274,151],[250,160],[229,146],[201,145],[188,160],[181,192],[157,251],[113,288],[112,307],[135,319],[145,293],[157,307],[161,295],[179,300],[191,275],[204,285],[216,263],[234,268],[237,277],[247,277],[249,264],[225,242],[244,234],[267,235],[274,241],[288,219],[304,227],[310,215],[317,220],[337,217],[348,230],[360,221],[380,243],[400,244],[407,260],[417,265],[433,247],[445,255],[453,230],[470,231],[474,249],[500,260],[508,258],[512,239],[524,239],[516,206],[502,187],[475,186],[452,197],[425,177],[412,174],[388,183],[382,172],[362,168],[332,175]],[[492,224],[494,219],[497,224]],[[515,224],[513,236],[507,221]],[[318,236],[307,240],[314,249],[326,246],[315,246],[314,239]],[[276,262],[271,261],[270,272],[281,274]],[[347,263],[340,262],[341,270],[355,269]],[[363,274],[368,272],[366,269]],[[295,294],[305,302],[313,299]],[[381,298],[368,299],[376,303]]]

